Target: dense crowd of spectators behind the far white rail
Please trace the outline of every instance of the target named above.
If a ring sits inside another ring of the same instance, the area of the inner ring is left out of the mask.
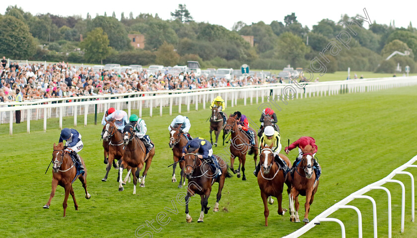
[[[279,80],[278,80],[279,81]],[[268,82],[277,82],[275,78]],[[16,89],[24,100],[71,97],[85,95],[180,90],[216,87],[239,87],[268,83],[260,77],[235,77],[231,80],[196,76],[194,73],[172,75],[167,70],[150,72],[126,70],[93,71],[90,67],[76,67],[66,62],[43,65],[39,63],[19,65],[3,57],[0,66],[0,102],[15,101]]]

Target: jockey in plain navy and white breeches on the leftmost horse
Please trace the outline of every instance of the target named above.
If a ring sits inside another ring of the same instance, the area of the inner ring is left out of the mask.
[[[59,143],[66,141],[64,150],[70,152],[71,157],[77,162],[79,173],[84,174],[84,166],[82,166],[81,158],[78,156],[78,152],[82,149],[81,135],[75,129],[64,128],[61,130]]]

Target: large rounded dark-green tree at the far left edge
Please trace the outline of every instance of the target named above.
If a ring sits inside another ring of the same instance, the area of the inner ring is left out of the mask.
[[[0,52],[6,57],[27,59],[36,52],[29,27],[14,16],[0,16]]]

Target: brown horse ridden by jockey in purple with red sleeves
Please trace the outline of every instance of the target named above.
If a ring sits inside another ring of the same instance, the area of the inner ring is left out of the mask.
[[[253,132],[255,132],[252,128],[249,128]],[[237,173],[237,178],[240,178],[240,166],[242,166],[242,173],[243,177],[242,180],[246,180],[245,176],[245,162],[246,162],[246,153],[248,155],[254,154],[253,159],[255,160],[255,167],[256,161],[258,158],[258,138],[255,136],[255,146],[250,145],[250,139],[246,135],[246,132],[240,130],[237,126],[236,116],[229,118],[226,120],[226,125],[224,126],[224,131],[226,134],[231,132],[231,142],[230,142],[230,170],[233,171],[233,174]],[[237,170],[233,170],[233,163],[235,157],[239,157],[239,168]]]

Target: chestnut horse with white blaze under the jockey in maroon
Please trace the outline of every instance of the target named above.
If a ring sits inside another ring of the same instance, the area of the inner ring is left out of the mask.
[[[301,150],[303,152],[303,157],[298,164],[294,172],[294,178],[292,179],[289,209],[291,213],[290,221],[300,222],[298,217],[298,209],[300,206],[298,195],[301,194],[302,196],[305,196],[305,214],[303,222],[307,224],[309,222],[308,213],[310,212],[310,205],[313,203],[314,194],[319,186],[319,179],[316,179],[316,173],[314,173],[313,170],[313,148],[310,145],[306,145],[305,148]]]

